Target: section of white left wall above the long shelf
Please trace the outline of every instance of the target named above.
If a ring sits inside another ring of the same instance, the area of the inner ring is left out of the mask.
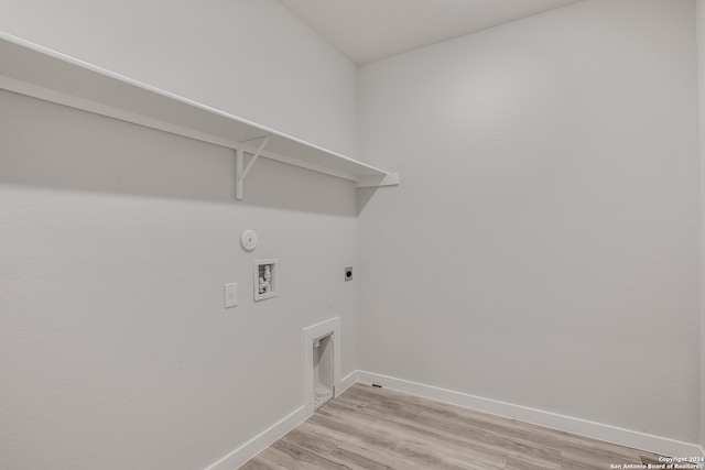
[[[357,68],[275,0],[0,0],[0,31],[357,154]]]

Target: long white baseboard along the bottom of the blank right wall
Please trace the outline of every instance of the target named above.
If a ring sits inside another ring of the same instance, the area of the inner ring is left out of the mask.
[[[354,374],[348,375],[350,378]],[[491,413],[553,429],[565,430],[594,439],[606,440],[636,449],[648,450],[671,457],[701,457],[705,456],[703,448],[697,444],[683,442],[666,437],[652,436],[636,430],[616,426],[589,422],[586,419],[564,416],[556,413],[529,408],[496,400],[482,398],[446,389],[440,389],[422,383],[410,382],[371,372],[357,371],[358,382],[375,383],[384,387],[425,398],[437,400],[453,405],[464,406],[485,413]],[[346,378],[346,379],[348,379]],[[351,378],[350,378],[351,380]]]

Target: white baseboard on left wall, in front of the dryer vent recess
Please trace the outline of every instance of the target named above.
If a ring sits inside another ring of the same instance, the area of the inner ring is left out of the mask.
[[[302,406],[280,422],[264,429],[252,439],[245,442],[205,470],[236,470],[252,457],[274,444],[286,433],[308,419],[313,415],[313,407]]]

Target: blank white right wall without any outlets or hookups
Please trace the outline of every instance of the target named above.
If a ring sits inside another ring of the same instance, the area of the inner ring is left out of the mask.
[[[587,0],[360,72],[359,365],[695,442],[693,1]]]

